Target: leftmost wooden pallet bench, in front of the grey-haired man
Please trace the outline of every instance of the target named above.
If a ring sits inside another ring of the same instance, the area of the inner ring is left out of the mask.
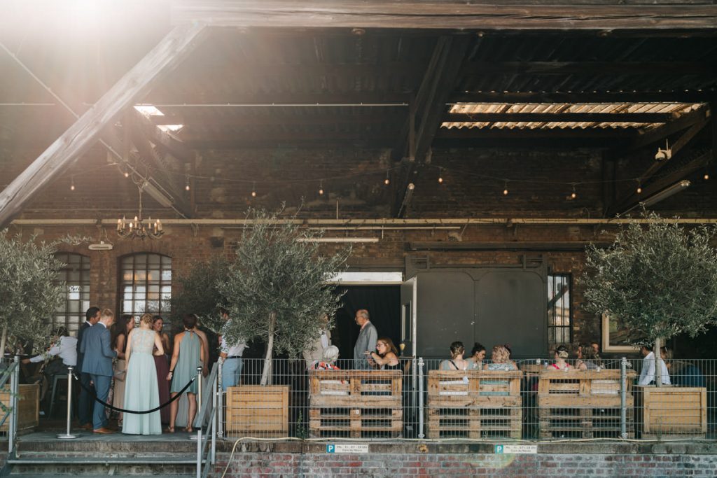
[[[310,371],[313,438],[391,438],[403,431],[400,371]]]

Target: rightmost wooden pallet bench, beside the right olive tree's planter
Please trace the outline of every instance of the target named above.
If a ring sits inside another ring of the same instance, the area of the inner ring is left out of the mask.
[[[627,435],[635,437],[632,380],[625,377]],[[543,370],[538,378],[541,439],[620,436],[620,371]]]

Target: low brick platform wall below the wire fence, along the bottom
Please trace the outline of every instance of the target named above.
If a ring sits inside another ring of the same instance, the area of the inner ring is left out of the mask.
[[[222,446],[223,445],[223,446]],[[219,445],[214,474],[234,477],[713,477],[717,454],[690,446],[539,444],[539,454],[494,454],[493,444],[370,444],[368,454],[328,454],[326,444]],[[706,446],[703,448],[713,448]],[[264,451],[259,451],[263,449]],[[555,451],[551,451],[555,449]],[[679,451],[678,451],[679,450]],[[682,452],[680,452],[682,451]],[[686,451],[686,453],[685,453]],[[229,466],[227,467],[227,464]]]

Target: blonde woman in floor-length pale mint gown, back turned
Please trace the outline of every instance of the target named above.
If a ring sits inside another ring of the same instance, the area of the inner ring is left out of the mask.
[[[125,403],[127,410],[144,411],[159,406],[157,369],[152,352],[163,355],[164,348],[159,335],[152,330],[152,315],[140,318],[139,329],[135,328],[127,338],[125,357],[127,374],[125,380]],[[159,411],[151,414],[125,414],[122,433],[135,435],[159,435],[162,422]]]

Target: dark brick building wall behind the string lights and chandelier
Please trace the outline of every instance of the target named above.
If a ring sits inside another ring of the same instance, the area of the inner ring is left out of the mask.
[[[9,183],[27,166],[39,151],[22,151],[4,158],[0,183]],[[417,167],[411,179],[416,184],[409,206],[410,218],[481,218],[481,217],[597,217],[602,211],[601,158],[597,150],[435,150],[430,163]],[[376,166],[379,165],[379,166]],[[438,166],[445,181],[437,182]],[[376,168],[380,168],[377,170]],[[386,169],[384,169],[384,167]],[[391,184],[383,183],[389,171]],[[267,148],[257,150],[205,150],[196,165],[191,195],[197,218],[243,219],[247,206],[276,208],[286,201],[294,211],[305,199],[300,216],[312,219],[334,219],[338,202],[341,219],[386,218],[396,195],[399,167],[389,161],[387,150],[315,150]],[[71,179],[75,191],[70,191]],[[503,181],[510,178],[508,196],[503,196]],[[183,185],[184,176],[177,178]],[[234,182],[227,182],[226,180]],[[323,179],[326,194],[318,196]],[[236,182],[244,181],[244,182]],[[256,186],[254,184],[256,181]],[[300,182],[285,182],[300,181]],[[534,182],[533,182],[534,181]],[[569,199],[571,188],[578,182],[578,197]],[[257,198],[252,199],[252,188]],[[94,148],[68,168],[61,178],[39,193],[24,210],[22,219],[113,219],[136,211],[137,190],[115,166],[107,166],[106,154]],[[171,219],[174,214],[144,197],[145,216]],[[694,206],[694,207],[693,207]],[[684,193],[663,201],[663,214],[680,216],[714,216],[717,191],[708,182],[695,181]],[[53,239],[68,232],[100,239],[95,226],[22,226],[29,237]],[[590,242],[606,241],[603,226],[553,225],[481,225],[469,226],[460,234],[463,242]],[[15,232],[16,226],[10,231]],[[237,228],[218,226],[168,226],[160,241],[123,241],[115,236],[112,226],[105,226],[113,251],[88,251],[86,244],[65,247],[90,257],[93,304],[118,307],[118,259],[134,252],[158,252],[171,256],[175,274],[182,274],[186,265],[212,254],[231,254],[232,244],[239,239]],[[371,231],[381,235],[375,244],[356,244],[350,259],[357,269],[404,269],[407,254],[429,257],[432,267],[453,264],[500,265],[520,264],[526,252],[455,251],[410,252],[410,242],[451,241],[450,234],[460,231],[421,230]],[[104,232],[101,239],[105,239]],[[344,234],[332,231],[331,234]],[[348,233],[346,233],[348,234]],[[327,249],[330,250],[330,249]],[[569,273],[576,279],[582,273],[584,254],[581,252],[528,252],[546,259],[549,270]],[[574,341],[599,337],[599,321],[581,310],[582,291],[574,280],[572,291]]]

